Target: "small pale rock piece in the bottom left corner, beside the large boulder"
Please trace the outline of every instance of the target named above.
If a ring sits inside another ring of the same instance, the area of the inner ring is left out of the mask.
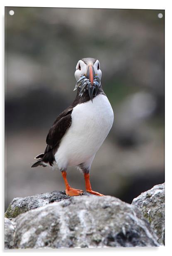
[[[5,218],[5,249],[12,249],[14,245],[15,222]]]

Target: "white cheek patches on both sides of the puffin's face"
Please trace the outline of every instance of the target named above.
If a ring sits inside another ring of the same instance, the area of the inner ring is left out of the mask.
[[[100,64],[98,59],[96,60],[96,62],[94,63],[94,72],[95,74],[99,77],[99,79],[101,80],[102,77],[102,71],[100,70]],[[87,65],[80,59],[79,62],[76,65],[76,71],[75,71],[75,78],[76,81],[78,81],[80,79],[81,76],[85,75],[86,76],[87,73]]]

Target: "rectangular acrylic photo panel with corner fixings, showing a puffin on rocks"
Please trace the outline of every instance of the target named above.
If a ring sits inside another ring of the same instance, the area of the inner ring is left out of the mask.
[[[165,244],[164,26],[5,7],[5,249]]]

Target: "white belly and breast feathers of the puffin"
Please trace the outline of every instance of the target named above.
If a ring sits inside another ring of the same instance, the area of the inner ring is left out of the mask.
[[[55,159],[60,169],[86,162],[100,148],[114,121],[107,96],[102,94],[73,108],[72,123],[63,136]]]

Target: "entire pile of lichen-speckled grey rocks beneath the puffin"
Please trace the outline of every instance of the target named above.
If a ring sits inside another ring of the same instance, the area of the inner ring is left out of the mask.
[[[157,185],[132,204],[87,192],[15,198],[5,213],[5,248],[159,246],[158,238],[165,241],[164,192]]]

